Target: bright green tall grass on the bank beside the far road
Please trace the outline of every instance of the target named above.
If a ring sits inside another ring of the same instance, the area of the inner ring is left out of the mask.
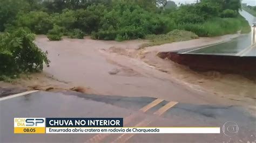
[[[250,25],[242,18],[214,18],[200,24],[180,24],[180,30],[191,31],[199,37],[214,37],[225,34],[234,34],[241,30],[241,33],[250,32]]]

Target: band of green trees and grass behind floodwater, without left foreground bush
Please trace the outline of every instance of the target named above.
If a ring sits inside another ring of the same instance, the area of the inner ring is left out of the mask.
[[[214,37],[247,32],[248,25],[239,15],[240,0],[201,0],[179,7],[163,0],[2,0],[0,5],[0,31],[22,27],[47,34],[50,40],[61,40],[62,35],[81,39],[86,34],[122,41],[176,29]]]

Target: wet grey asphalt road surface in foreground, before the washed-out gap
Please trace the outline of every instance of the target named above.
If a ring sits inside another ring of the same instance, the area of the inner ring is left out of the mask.
[[[12,98],[10,98],[12,97]],[[166,106],[166,105],[171,106]],[[161,114],[154,114],[161,111]],[[239,106],[193,105],[149,97],[86,95],[37,91],[0,98],[0,142],[255,142],[256,120]],[[14,134],[15,117],[122,117],[124,126],[221,128],[220,134]],[[239,131],[227,137],[222,127],[234,121]]]

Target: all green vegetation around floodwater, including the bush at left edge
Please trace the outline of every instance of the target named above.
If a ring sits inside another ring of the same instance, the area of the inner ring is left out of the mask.
[[[201,0],[177,6],[165,0],[1,0],[0,79],[41,71],[49,64],[34,34],[49,40],[149,39],[149,45],[248,31],[240,0]],[[250,26],[249,26],[250,27]]]

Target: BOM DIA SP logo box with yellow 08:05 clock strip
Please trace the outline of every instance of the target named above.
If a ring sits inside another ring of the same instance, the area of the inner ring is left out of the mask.
[[[45,133],[45,118],[14,118],[14,133]]]

